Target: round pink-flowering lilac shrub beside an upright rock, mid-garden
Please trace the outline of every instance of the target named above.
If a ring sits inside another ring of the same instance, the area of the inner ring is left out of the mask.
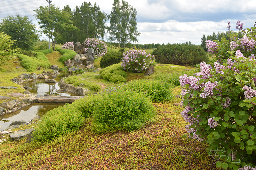
[[[145,50],[129,50],[123,54],[121,66],[127,71],[141,72],[147,70],[155,60],[154,55],[147,54]]]

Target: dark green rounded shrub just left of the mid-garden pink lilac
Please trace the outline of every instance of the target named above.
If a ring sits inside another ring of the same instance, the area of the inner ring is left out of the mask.
[[[118,51],[108,50],[108,52],[103,55],[100,59],[100,67],[106,68],[110,65],[120,63],[123,58],[124,48]]]

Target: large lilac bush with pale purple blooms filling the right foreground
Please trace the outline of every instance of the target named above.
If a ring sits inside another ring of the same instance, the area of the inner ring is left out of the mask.
[[[242,40],[252,42],[255,25],[247,30],[244,36],[248,38]],[[230,43],[224,48],[224,43],[217,44],[211,50],[232,48],[223,53],[228,58],[202,62],[193,76],[180,76],[186,106],[181,115],[188,122],[185,128],[191,138],[208,143],[209,151],[226,155],[217,167],[256,170],[256,59],[250,54],[255,44],[245,49],[237,43],[236,48]]]

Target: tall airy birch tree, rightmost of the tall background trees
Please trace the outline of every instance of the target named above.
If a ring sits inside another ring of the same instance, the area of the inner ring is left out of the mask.
[[[110,26],[109,40],[125,46],[126,43],[137,42],[140,33],[137,31],[137,11],[126,1],[114,0],[111,13],[108,15]]]

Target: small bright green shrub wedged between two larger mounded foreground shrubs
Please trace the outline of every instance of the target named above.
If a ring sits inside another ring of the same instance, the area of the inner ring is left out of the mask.
[[[83,117],[91,117],[94,112],[94,106],[98,104],[98,102],[102,100],[102,95],[89,95],[82,99],[76,100],[72,103],[74,107],[76,107],[76,110],[81,112]]]

